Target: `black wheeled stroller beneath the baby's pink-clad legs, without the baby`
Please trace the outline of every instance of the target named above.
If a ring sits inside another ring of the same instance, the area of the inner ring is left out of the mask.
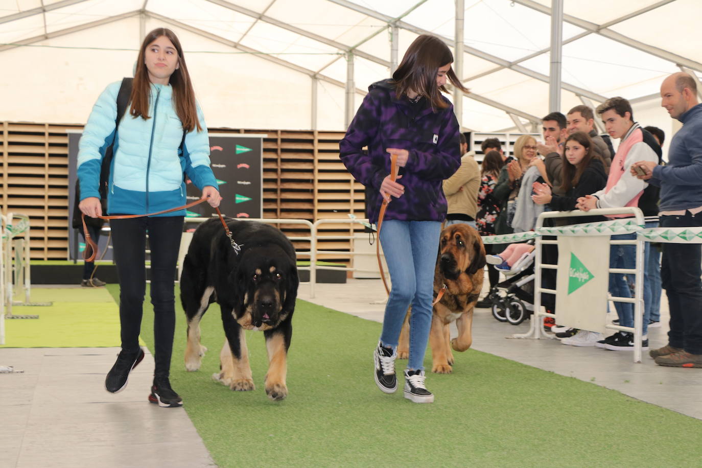
[[[509,270],[500,271],[505,281],[491,288],[487,299],[492,315],[501,322],[519,325],[534,312],[534,258],[536,250],[524,253]]]

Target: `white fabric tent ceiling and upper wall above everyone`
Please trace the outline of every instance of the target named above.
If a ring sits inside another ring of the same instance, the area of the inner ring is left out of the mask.
[[[465,128],[548,113],[550,3],[465,0]],[[454,12],[453,0],[0,0],[0,120],[81,123],[165,26],[211,126],[343,130],[345,54],[357,106],[390,74],[392,26],[402,58],[417,34],[453,44]],[[562,109],[621,95],[668,122],[658,87],[680,67],[702,74],[701,13],[699,0],[564,0]]]

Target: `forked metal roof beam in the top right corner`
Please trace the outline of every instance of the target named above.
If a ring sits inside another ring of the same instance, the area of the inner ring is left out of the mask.
[[[512,1],[512,0],[510,0]],[[527,6],[528,8],[531,8],[532,10],[540,11],[541,13],[544,13],[545,15],[551,15],[551,8],[548,6],[544,6],[542,4],[537,3],[534,0],[513,0],[515,3],[522,5],[522,6]],[[663,6],[665,4],[669,4],[670,1],[659,1],[657,4],[655,4],[656,8],[659,6]],[[624,44],[625,46],[630,46],[633,47],[639,51],[649,53],[651,55],[654,55],[658,58],[662,58],[663,60],[668,60],[669,62],[675,63],[675,65],[682,65],[684,67],[688,67],[694,70],[697,70],[698,72],[702,72],[702,63],[695,62],[694,60],[690,60],[689,58],[684,58],[682,55],[677,55],[672,52],[664,51],[661,48],[651,46],[650,44],[645,44],[641,41],[637,41],[635,39],[631,39],[628,36],[625,36],[623,34],[620,34],[618,32],[613,31],[612,29],[609,29],[607,26],[609,25],[614,25],[616,22],[621,22],[624,20],[628,20],[630,18],[633,18],[634,16],[641,15],[643,13],[647,13],[647,11],[651,11],[653,8],[642,8],[639,11],[636,11],[634,13],[630,13],[629,15],[626,15],[622,17],[623,19],[620,20],[618,18],[617,20],[612,20],[605,25],[597,25],[594,22],[590,21],[585,21],[581,20],[580,18],[576,18],[571,15],[563,15],[563,20],[565,22],[569,22],[571,25],[576,25],[577,27],[581,27],[587,31],[593,32],[595,34],[600,34],[601,36],[607,37],[607,39],[612,39],[613,41],[617,41],[621,44]]]

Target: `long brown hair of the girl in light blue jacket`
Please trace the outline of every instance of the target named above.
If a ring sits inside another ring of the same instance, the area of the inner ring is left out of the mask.
[[[178,69],[173,71],[168,83],[173,87],[173,104],[176,107],[178,119],[183,123],[183,131],[191,132],[194,128],[197,131],[202,131],[200,122],[197,119],[197,107],[195,105],[195,92],[192,90],[190,82],[190,74],[187,72],[185,65],[185,57],[183,56],[183,48],[180,46],[180,41],[176,34],[171,29],[159,27],[146,35],[141,48],[139,49],[139,57],[136,62],[136,72],[132,84],[132,92],[129,96],[131,107],[129,114],[142,119],[150,119],[149,116],[149,98],[151,95],[151,81],[149,79],[149,70],[144,62],[146,48],[153,41],[161,36],[166,36],[178,52]]]

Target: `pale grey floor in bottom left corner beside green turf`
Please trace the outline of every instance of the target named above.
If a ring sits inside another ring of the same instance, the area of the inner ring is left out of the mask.
[[[151,354],[133,370],[126,389],[105,390],[118,352],[0,349],[0,365],[24,371],[0,373],[0,467],[216,466],[183,408],[147,402]]]

